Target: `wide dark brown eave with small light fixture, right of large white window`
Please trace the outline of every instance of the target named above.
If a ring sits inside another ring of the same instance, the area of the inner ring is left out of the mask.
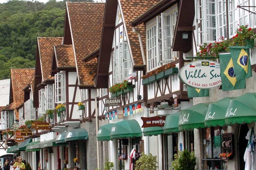
[[[172,42],[173,51],[187,53],[192,49],[193,21],[195,17],[195,1],[181,0],[178,18]],[[188,33],[187,39],[182,39],[183,32]]]

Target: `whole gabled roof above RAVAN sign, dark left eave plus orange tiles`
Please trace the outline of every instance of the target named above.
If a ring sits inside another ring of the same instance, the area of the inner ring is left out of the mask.
[[[104,22],[102,28],[101,44],[98,57],[98,71],[96,77],[96,86],[98,88],[107,88],[108,71],[112,50],[112,42],[115,30],[115,20],[117,7],[120,2],[120,9],[124,24],[127,30],[127,39],[131,47],[133,67],[142,67],[143,60],[140,49],[138,34],[132,31],[129,22],[143,14],[149,8],[157,4],[160,0],[106,0],[104,13]],[[143,48],[145,51],[145,25],[137,26],[140,29]]]

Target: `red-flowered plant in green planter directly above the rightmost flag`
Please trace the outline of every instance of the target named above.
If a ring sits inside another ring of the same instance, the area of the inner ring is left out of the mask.
[[[256,33],[253,32],[252,28],[248,28],[248,25],[244,26],[238,24],[238,26],[237,34],[233,36],[233,46],[253,46]]]

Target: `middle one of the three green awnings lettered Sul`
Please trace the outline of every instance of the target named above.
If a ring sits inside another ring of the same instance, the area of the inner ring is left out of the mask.
[[[224,119],[225,114],[231,99],[233,98],[225,97],[221,100],[209,104],[204,118],[204,125],[207,127],[224,126],[226,124]]]

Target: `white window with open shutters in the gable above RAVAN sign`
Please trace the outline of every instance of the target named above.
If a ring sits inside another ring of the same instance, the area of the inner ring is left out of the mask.
[[[112,58],[114,83],[128,79],[129,71],[131,69],[131,57],[127,41],[119,42],[115,45]]]

